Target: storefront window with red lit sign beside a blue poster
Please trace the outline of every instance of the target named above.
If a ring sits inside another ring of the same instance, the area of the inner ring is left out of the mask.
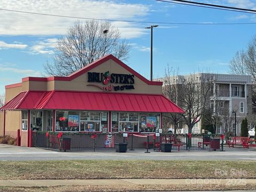
[[[79,131],[79,111],[56,111],[56,131]]]

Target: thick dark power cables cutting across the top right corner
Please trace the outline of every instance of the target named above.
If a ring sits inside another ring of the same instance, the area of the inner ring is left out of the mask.
[[[165,3],[181,4],[181,5],[189,5],[189,6],[196,6],[196,7],[204,7],[204,8],[215,9],[215,10],[224,10],[224,11],[233,11],[233,12],[256,14],[256,10],[247,10],[247,9],[242,9],[242,8],[238,8],[238,7],[228,7],[228,6],[213,5],[213,4],[198,3],[198,2],[189,2],[189,1],[182,1],[182,0],[171,0],[171,1],[187,2],[187,3],[177,3],[177,2],[170,2],[170,1],[165,1],[165,0],[155,0],[155,1],[165,2]],[[196,4],[200,4],[200,5],[193,5],[193,4],[188,4],[188,3],[196,3]],[[203,6],[203,5],[207,5],[207,6]],[[215,6],[215,7],[209,7],[209,6]],[[223,8],[217,8],[217,7],[223,7]],[[241,11],[239,11],[239,10],[241,10]],[[247,11],[242,11],[242,10],[247,10]],[[248,12],[248,11],[251,11],[251,12]],[[253,12],[255,12],[255,13],[253,13]]]

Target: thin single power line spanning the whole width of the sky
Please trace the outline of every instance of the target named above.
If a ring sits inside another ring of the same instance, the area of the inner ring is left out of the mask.
[[[160,1],[160,0],[156,0]],[[166,1],[167,2],[167,1]],[[169,2],[172,3],[172,2]],[[156,22],[156,21],[132,21],[132,20],[115,20],[115,19],[97,19],[97,18],[85,18],[85,17],[73,17],[67,15],[58,15],[58,14],[47,14],[47,13],[36,13],[28,11],[18,11],[18,10],[9,10],[9,9],[0,9],[2,11],[18,12],[18,13],[27,13],[27,14],[36,14],[44,15],[51,17],[62,17],[62,18],[71,18],[71,19],[87,19],[87,20],[98,20],[98,21],[112,21],[112,22],[132,22],[132,23],[151,23],[151,24],[169,24],[169,25],[254,25],[256,22],[244,22],[244,23],[190,23],[190,22]]]

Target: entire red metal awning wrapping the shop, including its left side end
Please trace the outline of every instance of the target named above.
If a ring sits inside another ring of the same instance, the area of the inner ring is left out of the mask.
[[[1,110],[57,109],[184,113],[161,94],[49,91],[21,92]]]

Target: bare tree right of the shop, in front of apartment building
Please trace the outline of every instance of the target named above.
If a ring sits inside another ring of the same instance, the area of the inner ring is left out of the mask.
[[[166,77],[165,77],[166,78]],[[188,76],[176,76],[175,82],[172,78],[165,80],[165,95],[181,107],[184,114],[173,114],[174,126],[184,122],[191,133],[193,126],[200,121],[205,114],[206,106],[210,102],[211,74],[190,74]],[[175,88],[176,85],[177,87]],[[181,117],[180,117],[181,116]],[[176,121],[178,120],[178,121]]]

